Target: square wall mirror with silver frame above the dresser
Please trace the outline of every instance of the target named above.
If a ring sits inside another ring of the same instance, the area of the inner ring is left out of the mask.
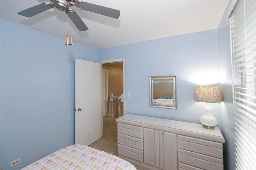
[[[176,76],[150,76],[150,106],[177,109]]]

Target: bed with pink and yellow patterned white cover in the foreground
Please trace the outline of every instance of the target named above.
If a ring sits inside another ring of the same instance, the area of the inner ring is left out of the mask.
[[[22,170],[136,170],[130,162],[85,145],[71,145]]]

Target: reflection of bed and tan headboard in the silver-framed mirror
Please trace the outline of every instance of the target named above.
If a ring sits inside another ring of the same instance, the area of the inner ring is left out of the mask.
[[[172,82],[160,82],[153,85],[153,104],[173,105]]]

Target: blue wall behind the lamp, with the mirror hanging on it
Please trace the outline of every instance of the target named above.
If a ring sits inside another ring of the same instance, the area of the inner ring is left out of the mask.
[[[98,60],[126,58],[126,113],[200,123],[194,85],[219,84],[218,31],[202,31],[98,50]],[[177,76],[178,109],[149,106],[149,76]],[[211,104],[220,127],[220,103]]]

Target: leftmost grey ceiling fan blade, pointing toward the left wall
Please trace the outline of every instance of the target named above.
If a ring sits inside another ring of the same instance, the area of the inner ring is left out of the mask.
[[[28,8],[26,10],[23,10],[21,12],[18,12],[17,14],[25,17],[32,17],[37,14],[40,14],[41,12],[44,12],[46,10],[50,10],[51,8],[54,8],[53,4],[50,3],[43,3],[36,6],[33,6],[31,8]]]

